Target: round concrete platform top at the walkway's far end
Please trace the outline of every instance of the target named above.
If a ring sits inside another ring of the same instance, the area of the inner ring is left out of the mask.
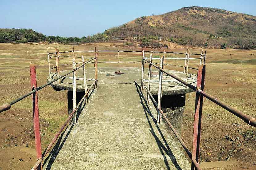
[[[153,68],[153,67],[152,67]],[[115,71],[125,72],[121,76],[106,76],[106,74],[113,74]],[[64,75],[70,70],[61,71],[60,75]],[[158,70],[152,69],[152,73],[158,73]],[[185,79],[186,73],[169,70],[170,73]],[[148,79],[148,69],[146,68],[144,71],[144,79]],[[48,81],[52,81],[57,76],[48,77]],[[72,77],[72,73],[68,75],[68,77]],[[77,77],[83,77],[82,69],[77,70]],[[94,68],[86,68],[86,78],[94,78]],[[158,79],[159,77],[151,77],[151,94],[157,95],[158,94]],[[118,83],[134,83],[134,81],[140,84],[141,82],[141,68],[138,67],[99,67],[98,68],[98,85],[101,86],[102,84],[118,84]],[[156,82],[154,82],[156,81]],[[162,95],[171,95],[171,94],[184,94],[192,92],[191,89],[186,87],[185,85],[181,84],[180,82],[176,81],[174,78],[163,74],[163,90]],[[88,85],[90,85],[89,81]],[[196,86],[196,76],[192,74],[188,74],[188,82],[192,85]],[[147,83],[147,81],[145,81]],[[64,79],[61,81],[61,84],[58,82],[52,83],[52,87],[56,90],[68,90],[72,91],[72,79]],[[84,91],[83,80],[77,80],[77,91],[82,92]]]

